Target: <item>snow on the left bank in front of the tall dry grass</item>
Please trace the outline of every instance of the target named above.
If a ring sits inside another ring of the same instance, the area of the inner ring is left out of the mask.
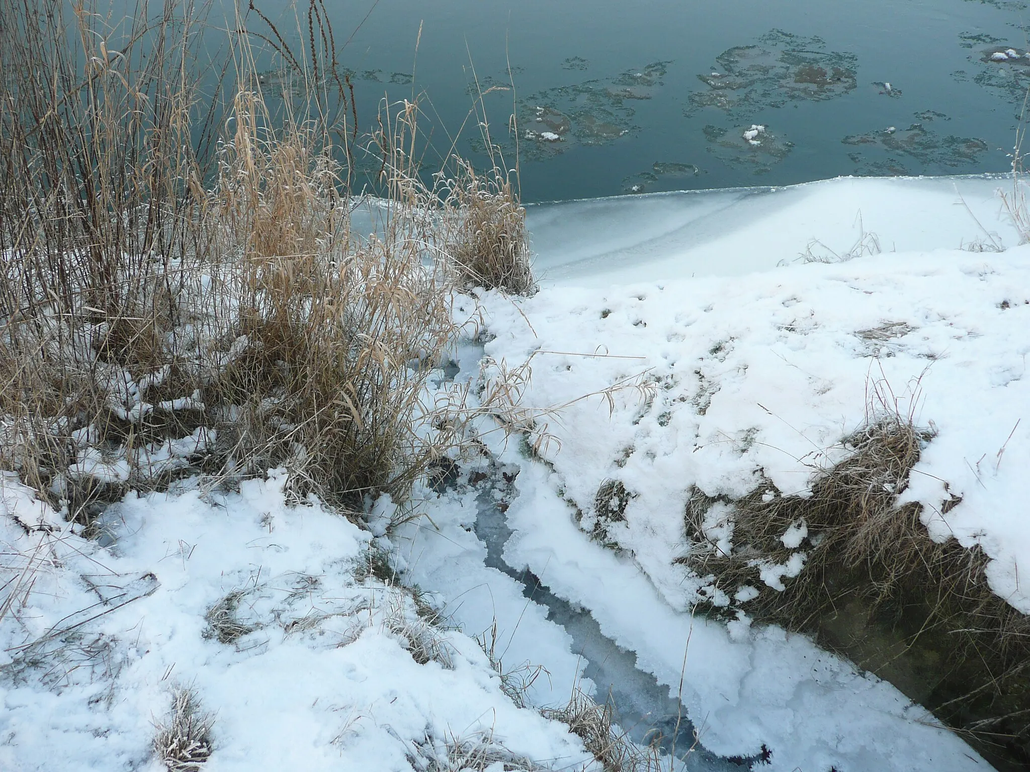
[[[174,683],[215,714],[212,772],[406,770],[423,745],[480,737],[560,766],[589,758],[564,725],[505,698],[467,635],[441,632],[444,656],[418,664],[410,597],[354,578],[371,534],[314,500],[287,505],[282,482],[131,495],[108,511],[101,548],[5,480],[3,551],[35,555],[38,571],[0,651],[44,667],[8,663],[0,680],[0,768],[162,769],[149,743]],[[205,613],[230,592],[251,632],[205,638]],[[81,635],[54,636],[79,609],[92,618]]]

